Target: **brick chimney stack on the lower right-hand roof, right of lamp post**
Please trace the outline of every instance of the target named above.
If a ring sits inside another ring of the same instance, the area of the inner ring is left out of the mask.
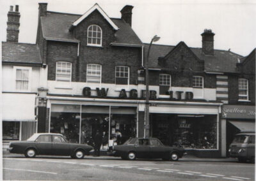
[[[202,36],[202,53],[205,55],[214,55],[214,33],[211,29],[204,29]]]

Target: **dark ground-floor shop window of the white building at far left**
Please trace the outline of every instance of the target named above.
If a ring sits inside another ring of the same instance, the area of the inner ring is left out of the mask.
[[[3,121],[3,140],[19,140],[20,122]]]

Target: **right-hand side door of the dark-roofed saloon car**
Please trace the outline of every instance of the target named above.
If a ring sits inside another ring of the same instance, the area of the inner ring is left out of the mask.
[[[150,157],[151,158],[161,158],[166,154],[166,148],[157,139],[150,139]]]

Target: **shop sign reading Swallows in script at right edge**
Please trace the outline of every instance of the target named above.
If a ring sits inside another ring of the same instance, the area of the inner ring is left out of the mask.
[[[255,106],[224,105],[222,117],[227,119],[255,119]]]

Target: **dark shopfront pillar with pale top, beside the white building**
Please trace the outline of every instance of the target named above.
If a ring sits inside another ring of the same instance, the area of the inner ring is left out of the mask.
[[[46,130],[46,115],[47,115],[47,95],[48,89],[44,87],[38,88],[38,124],[37,124],[37,132],[38,133],[47,133]]]

